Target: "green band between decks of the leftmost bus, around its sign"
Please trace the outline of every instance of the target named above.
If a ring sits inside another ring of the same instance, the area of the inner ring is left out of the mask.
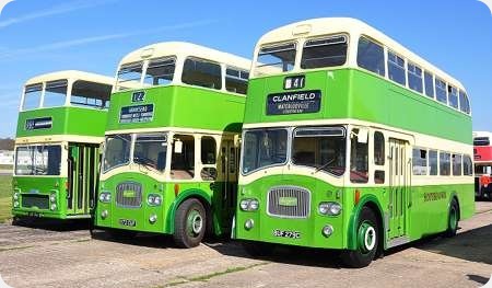
[[[46,129],[26,129],[26,120],[51,117],[52,126]],[[103,137],[107,111],[82,107],[54,107],[21,112],[16,137],[80,135]]]

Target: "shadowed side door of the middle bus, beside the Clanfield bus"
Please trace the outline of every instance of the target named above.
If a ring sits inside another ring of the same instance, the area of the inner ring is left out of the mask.
[[[230,219],[236,207],[237,194],[237,161],[238,149],[234,145],[234,140],[227,139],[222,141],[221,146],[221,185],[222,189],[222,207],[225,218]],[[227,222],[229,224],[230,222]]]

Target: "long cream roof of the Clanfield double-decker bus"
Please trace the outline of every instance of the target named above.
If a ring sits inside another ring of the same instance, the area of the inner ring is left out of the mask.
[[[255,54],[258,54],[259,47],[265,44],[274,44],[278,42],[285,42],[288,39],[316,37],[343,32],[348,33],[349,35],[368,36],[370,38],[383,44],[384,46],[387,46],[396,54],[407,58],[411,62],[419,65],[420,67],[422,67],[427,71],[432,71],[435,76],[466,91],[464,85],[455,78],[450,77],[446,72],[442,71],[437,67],[433,66],[429,61],[421,58],[420,56],[410,51],[405,46],[394,41],[389,36],[385,35],[380,31],[370,26],[368,24],[360,20],[352,18],[311,19],[281,26],[261,36],[255,48]]]

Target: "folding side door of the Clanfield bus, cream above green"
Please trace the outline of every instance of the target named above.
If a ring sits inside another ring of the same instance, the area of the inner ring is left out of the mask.
[[[407,234],[410,197],[410,153],[408,142],[389,138],[389,224],[387,240]]]

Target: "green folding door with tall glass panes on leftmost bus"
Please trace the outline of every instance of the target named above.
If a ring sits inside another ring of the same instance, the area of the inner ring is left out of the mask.
[[[90,209],[94,207],[98,164],[99,155],[96,145],[69,145],[68,215],[89,215]]]

